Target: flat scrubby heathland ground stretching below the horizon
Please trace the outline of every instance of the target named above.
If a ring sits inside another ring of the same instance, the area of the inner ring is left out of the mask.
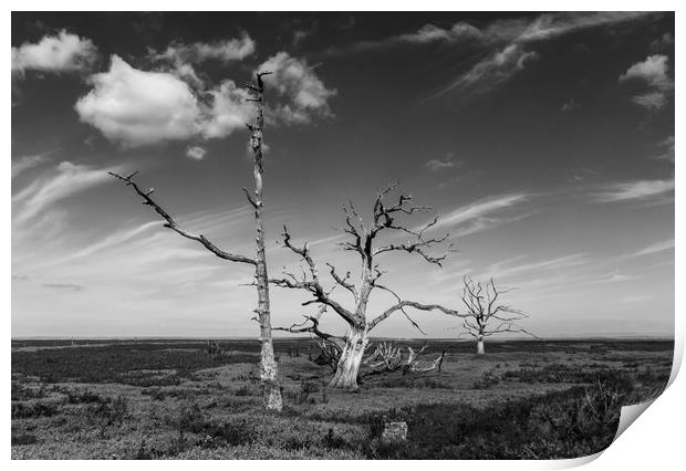
[[[425,341],[396,342],[420,346]],[[575,458],[607,447],[622,405],[665,387],[672,341],[429,341],[440,371],[326,387],[309,339],[277,341],[284,410],[261,407],[259,345],[12,341],[13,459]],[[407,441],[380,438],[406,421]]]

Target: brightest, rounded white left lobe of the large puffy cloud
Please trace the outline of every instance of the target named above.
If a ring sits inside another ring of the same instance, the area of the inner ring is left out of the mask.
[[[198,133],[198,101],[172,74],[139,71],[113,55],[110,71],[93,75],[91,83],[93,90],[75,109],[111,140],[135,147]]]

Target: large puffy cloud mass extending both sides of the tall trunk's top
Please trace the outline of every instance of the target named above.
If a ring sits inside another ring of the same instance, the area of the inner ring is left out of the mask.
[[[274,73],[268,87],[277,95],[270,104],[272,124],[310,124],[331,116],[329,90],[303,59],[285,52],[267,60],[260,71]],[[74,108],[82,122],[124,147],[138,147],[165,140],[194,137],[222,138],[245,128],[254,117],[248,90],[225,80],[214,88],[196,81],[197,75],[176,72],[147,72],[134,69],[117,55],[110,71],[90,78],[93,88]],[[188,82],[199,90],[194,91]],[[209,100],[198,100],[201,95]]]

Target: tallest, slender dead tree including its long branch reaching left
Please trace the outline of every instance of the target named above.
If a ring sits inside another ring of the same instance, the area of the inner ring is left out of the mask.
[[[264,221],[262,218],[263,211],[263,197],[262,197],[262,133],[264,129],[264,82],[262,77],[269,75],[271,72],[260,72],[257,74],[254,83],[248,83],[246,86],[253,92],[254,97],[250,98],[256,103],[257,114],[253,124],[246,124],[250,132],[250,149],[253,157],[253,176],[254,176],[254,190],[251,193],[247,188],[243,188],[243,192],[248,198],[248,201],[254,209],[254,221],[257,229],[257,253],[254,257],[239,255],[230,252],[226,252],[210,242],[202,234],[194,234],[185,229],[181,229],[176,221],[169,216],[157,202],[155,202],[150,195],[155,191],[153,188],[143,190],[133,180],[133,177],[137,174],[134,171],[131,175],[122,176],[118,174],[112,174],[115,178],[124,181],[127,186],[131,186],[142,198],[143,205],[152,207],[166,222],[165,228],[172,229],[176,233],[186,239],[194,240],[207,250],[212,252],[220,259],[249,264],[254,268],[254,278],[258,291],[258,307],[254,310],[257,314],[254,320],[260,324],[260,343],[261,343],[261,362],[260,362],[260,377],[263,386],[264,405],[267,409],[281,410],[281,388],[278,380],[277,362],[274,359],[274,349],[271,339],[271,318],[269,306],[269,278],[267,275],[267,258],[264,255]]]

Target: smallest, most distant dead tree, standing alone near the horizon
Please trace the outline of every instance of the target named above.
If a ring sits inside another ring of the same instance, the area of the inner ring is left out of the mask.
[[[484,355],[484,339],[491,335],[507,332],[519,332],[522,334],[536,335],[521,327],[518,322],[529,315],[516,310],[508,304],[499,304],[501,294],[512,291],[512,289],[498,289],[491,278],[488,282],[475,282],[465,276],[462,287],[462,303],[469,313],[462,321],[466,332],[460,335],[471,335],[477,341],[477,354]]]

